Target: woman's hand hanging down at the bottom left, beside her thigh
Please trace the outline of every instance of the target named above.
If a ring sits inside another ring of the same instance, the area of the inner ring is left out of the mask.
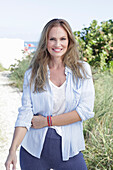
[[[16,170],[16,163],[17,163],[16,151],[10,151],[5,162],[6,170],[10,170],[11,164],[13,165],[12,170]]]

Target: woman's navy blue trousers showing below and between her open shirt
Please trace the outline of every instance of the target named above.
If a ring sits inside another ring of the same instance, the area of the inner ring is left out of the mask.
[[[87,170],[83,154],[62,161],[61,136],[52,128],[48,129],[41,158],[29,154],[23,147],[20,149],[21,170]]]

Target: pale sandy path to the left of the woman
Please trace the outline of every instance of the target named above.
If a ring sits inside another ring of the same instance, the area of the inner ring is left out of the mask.
[[[0,170],[5,170],[4,162],[12,141],[14,125],[21,106],[21,95],[18,89],[11,87],[9,72],[0,72]],[[19,168],[19,151],[17,151],[17,170]]]

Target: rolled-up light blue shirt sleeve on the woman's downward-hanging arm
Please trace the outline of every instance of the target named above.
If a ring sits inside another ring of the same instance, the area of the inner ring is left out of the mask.
[[[24,75],[22,106],[18,109],[19,113],[15,123],[15,127],[26,127],[29,130],[33,117],[33,107],[31,100],[30,84],[28,81],[28,73],[29,71],[26,71]]]

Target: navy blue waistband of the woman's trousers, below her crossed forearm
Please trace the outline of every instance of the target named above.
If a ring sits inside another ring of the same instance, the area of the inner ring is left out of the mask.
[[[56,132],[56,130],[53,129],[53,128],[48,128],[46,137],[47,137],[47,138],[52,138],[52,139],[61,139],[61,136],[58,135],[58,133]]]

